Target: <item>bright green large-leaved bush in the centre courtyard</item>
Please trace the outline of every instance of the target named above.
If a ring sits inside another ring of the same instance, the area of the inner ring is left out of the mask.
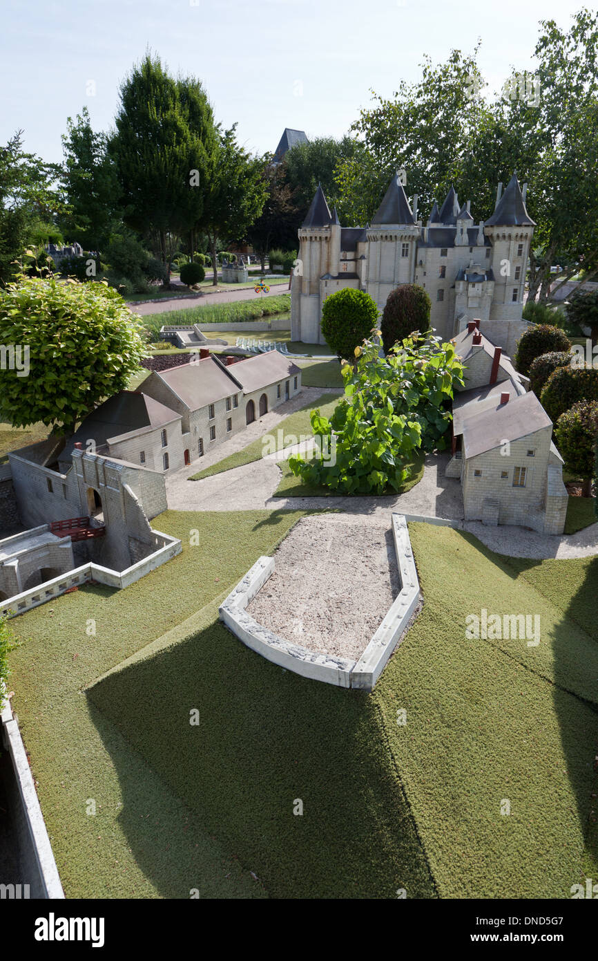
[[[382,494],[409,479],[408,464],[420,450],[445,446],[450,401],[463,385],[463,365],[452,344],[433,337],[405,339],[388,357],[364,341],[355,369],[343,364],[345,397],[327,419],[311,415],[320,450],[334,457],[289,458],[293,473],[308,484],[342,494]]]

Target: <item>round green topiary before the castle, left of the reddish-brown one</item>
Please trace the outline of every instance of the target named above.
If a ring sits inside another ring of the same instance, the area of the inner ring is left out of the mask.
[[[346,287],[323,302],[322,333],[330,350],[339,358],[355,357],[358,347],[378,320],[378,308],[365,290]]]

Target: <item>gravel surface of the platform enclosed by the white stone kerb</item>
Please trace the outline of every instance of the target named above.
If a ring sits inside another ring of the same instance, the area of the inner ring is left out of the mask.
[[[258,624],[310,651],[357,660],[399,590],[389,518],[303,517],[248,607]]]

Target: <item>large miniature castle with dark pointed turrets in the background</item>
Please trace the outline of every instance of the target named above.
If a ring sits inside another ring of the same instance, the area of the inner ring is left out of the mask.
[[[367,291],[382,310],[401,283],[418,283],[432,302],[431,327],[448,340],[467,321],[507,353],[527,324],[521,318],[530,242],[536,224],[525,207],[526,185],[516,174],[489,220],[475,224],[469,201],[460,206],[451,186],[442,208],[434,203],[425,227],[418,197],[409,206],[398,174],[367,227],[341,227],[319,186],[299,229],[299,269],[291,290],[291,336],[324,343],[323,301],[344,287]]]

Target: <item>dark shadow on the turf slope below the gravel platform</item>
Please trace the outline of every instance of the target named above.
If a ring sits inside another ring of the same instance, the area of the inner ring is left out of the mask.
[[[435,897],[368,696],[286,672],[212,621],[87,697],[271,897]],[[112,761],[133,853],[169,896],[172,867],[139,824],[139,785],[126,755]]]

